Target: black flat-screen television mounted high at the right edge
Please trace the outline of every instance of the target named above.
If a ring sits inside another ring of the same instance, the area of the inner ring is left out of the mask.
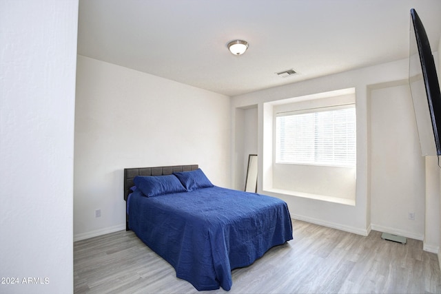
[[[416,112],[422,156],[440,156],[440,83],[426,30],[413,8],[411,9],[410,27],[409,83],[413,107]],[[418,53],[416,48],[418,48]]]

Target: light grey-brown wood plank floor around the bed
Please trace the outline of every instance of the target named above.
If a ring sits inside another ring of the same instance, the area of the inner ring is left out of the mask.
[[[293,220],[294,240],[232,271],[229,293],[441,293],[438,257],[407,244]],[[222,288],[207,293],[227,293]],[[74,293],[198,293],[133,232],[74,243]]]

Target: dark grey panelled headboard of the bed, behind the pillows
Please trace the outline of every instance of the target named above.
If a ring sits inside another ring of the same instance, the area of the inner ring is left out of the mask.
[[[172,165],[167,167],[132,167],[124,169],[124,200],[127,211],[127,197],[130,188],[134,186],[133,179],[136,176],[167,176],[181,171],[194,171],[198,169],[198,165]],[[129,229],[129,216],[125,214],[125,231]]]

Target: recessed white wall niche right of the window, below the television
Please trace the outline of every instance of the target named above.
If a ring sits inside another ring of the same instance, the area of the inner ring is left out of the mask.
[[[423,240],[425,165],[409,83],[374,88],[369,103],[372,229]]]

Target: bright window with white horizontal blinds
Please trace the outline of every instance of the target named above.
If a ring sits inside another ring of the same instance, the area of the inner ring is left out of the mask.
[[[355,167],[355,105],[277,114],[276,162]]]

